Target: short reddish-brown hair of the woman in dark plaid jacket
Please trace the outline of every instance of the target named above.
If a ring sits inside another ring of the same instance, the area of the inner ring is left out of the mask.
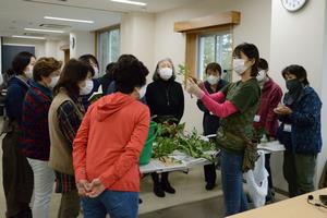
[[[33,68],[34,81],[41,81],[41,76],[48,77],[55,71],[61,69],[62,61],[58,61],[55,58],[40,58],[36,61]]]

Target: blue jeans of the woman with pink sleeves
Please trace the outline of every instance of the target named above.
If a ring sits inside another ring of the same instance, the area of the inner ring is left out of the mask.
[[[247,210],[247,199],[243,191],[243,155],[221,149],[221,182],[226,216]]]

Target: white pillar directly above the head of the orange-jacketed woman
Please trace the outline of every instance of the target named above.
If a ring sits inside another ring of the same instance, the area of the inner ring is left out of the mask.
[[[121,22],[121,55],[131,53],[137,57],[154,71],[154,14],[130,13],[122,16]],[[150,73],[152,74],[152,73]],[[148,77],[147,82],[149,82]]]

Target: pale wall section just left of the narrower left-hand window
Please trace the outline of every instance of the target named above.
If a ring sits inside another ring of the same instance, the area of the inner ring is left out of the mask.
[[[75,38],[75,47],[71,47],[71,58],[78,58],[80,56],[90,53],[95,55],[95,37],[90,32],[72,32],[70,38]],[[72,40],[70,40],[70,44]]]

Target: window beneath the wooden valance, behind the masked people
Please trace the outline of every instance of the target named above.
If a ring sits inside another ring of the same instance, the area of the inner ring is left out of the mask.
[[[221,77],[231,81],[232,69],[232,35],[219,33],[198,36],[197,77],[205,78],[208,63],[217,62],[221,65]]]

